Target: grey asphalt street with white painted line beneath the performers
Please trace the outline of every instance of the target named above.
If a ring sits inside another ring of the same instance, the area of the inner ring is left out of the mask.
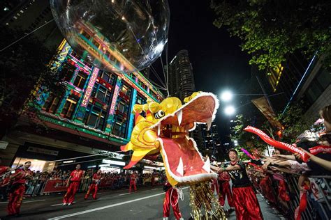
[[[179,209],[184,219],[191,217],[189,207],[189,188],[184,187],[184,201],[179,200]],[[84,194],[76,194],[75,203],[62,206],[62,195],[38,196],[24,199],[20,217],[6,217],[6,202],[0,203],[0,219],[162,219],[163,198],[162,187],[145,187],[138,192],[128,194],[127,189],[117,191],[101,191],[96,201],[84,200]],[[259,198],[265,219],[280,219]],[[170,211],[170,218],[175,219]],[[230,219],[235,219],[231,214]]]

